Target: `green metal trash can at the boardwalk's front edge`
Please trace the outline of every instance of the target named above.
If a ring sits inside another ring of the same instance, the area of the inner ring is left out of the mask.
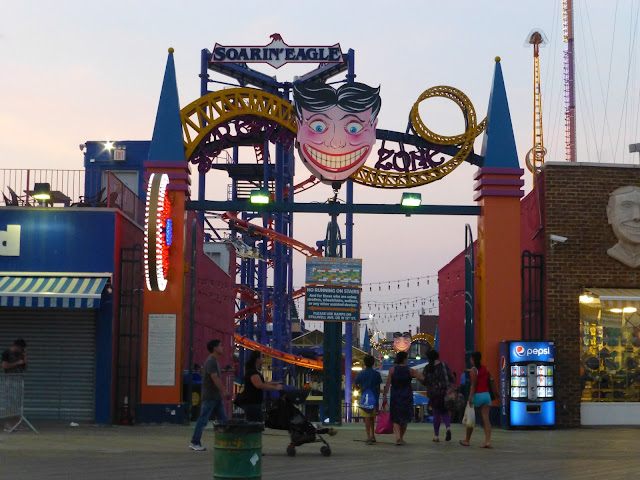
[[[262,478],[262,422],[213,424],[213,478]]]

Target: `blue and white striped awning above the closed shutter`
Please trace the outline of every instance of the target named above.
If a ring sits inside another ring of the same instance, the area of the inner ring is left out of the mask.
[[[110,277],[0,276],[0,307],[98,308]]]

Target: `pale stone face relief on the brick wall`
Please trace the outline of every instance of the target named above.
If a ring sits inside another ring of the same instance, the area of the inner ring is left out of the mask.
[[[618,238],[618,243],[607,250],[609,256],[628,267],[640,267],[640,187],[620,187],[611,192],[607,218]]]

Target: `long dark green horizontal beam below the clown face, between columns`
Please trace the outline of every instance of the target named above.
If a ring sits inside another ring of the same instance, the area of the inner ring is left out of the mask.
[[[244,200],[236,202],[198,200],[187,201],[186,210],[211,212],[296,212],[296,213],[341,213],[386,214],[386,215],[480,215],[480,207],[476,205],[420,205],[419,207],[403,207],[400,204],[377,203],[269,203],[256,205]]]

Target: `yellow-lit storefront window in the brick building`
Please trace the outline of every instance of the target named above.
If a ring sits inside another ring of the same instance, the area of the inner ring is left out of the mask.
[[[640,315],[633,304],[580,296],[583,402],[640,401]]]

